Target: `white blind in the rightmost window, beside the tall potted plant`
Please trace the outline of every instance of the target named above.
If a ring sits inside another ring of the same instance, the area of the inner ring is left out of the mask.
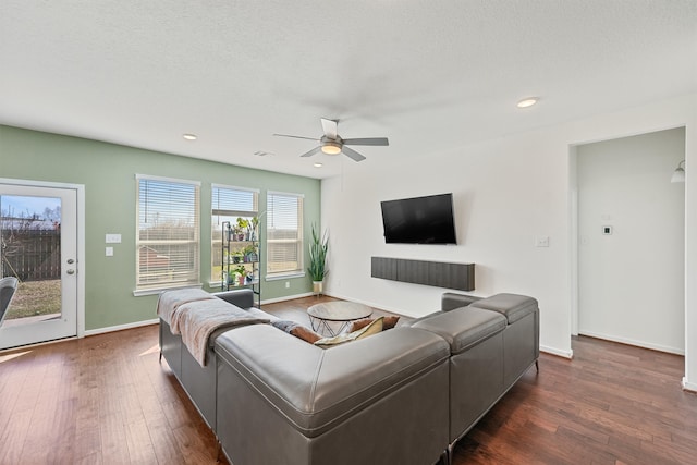
[[[267,276],[303,272],[303,196],[267,194]]]

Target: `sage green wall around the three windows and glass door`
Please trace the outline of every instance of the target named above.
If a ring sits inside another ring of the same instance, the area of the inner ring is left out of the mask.
[[[85,185],[85,329],[94,330],[156,318],[156,295],[135,297],[135,175],[200,181],[200,269],[204,289],[210,277],[211,183],[259,189],[259,211],[267,191],[304,194],[304,236],[320,222],[320,181],[255,170],[103,142],[0,125],[0,178]],[[262,225],[266,224],[262,219]],[[114,256],[105,256],[105,234],[121,234]],[[265,234],[261,231],[261,240]],[[305,247],[307,262],[307,247]],[[266,274],[262,264],[261,277]],[[285,289],[285,282],[290,289]],[[311,292],[311,281],[262,281],[261,298]]]

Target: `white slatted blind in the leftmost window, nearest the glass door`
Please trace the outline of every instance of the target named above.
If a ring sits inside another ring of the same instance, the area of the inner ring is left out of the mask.
[[[199,284],[199,184],[136,181],[136,291]]]

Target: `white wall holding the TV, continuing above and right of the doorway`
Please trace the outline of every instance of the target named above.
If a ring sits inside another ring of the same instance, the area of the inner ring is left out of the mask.
[[[697,95],[435,154],[428,163],[346,164],[322,181],[331,232],[327,292],[405,315],[439,307],[442,290],[370,278],[370,257],[477,264],[476,294],[516,292],[540,303],[541,348],[571,356],[570,154],[578,144],[685,126],[685,280],[697,280]],[[379,201],[453,192],[460,245],[386,245]],[[534,247],[536,235],[549,248]],[[684,386],[697,390],[697,286],[685,291]],[[694,355],[693,355],[694,354]]]

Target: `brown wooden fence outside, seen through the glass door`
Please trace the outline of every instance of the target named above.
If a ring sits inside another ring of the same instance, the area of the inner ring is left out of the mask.
[[[2,277],[20,281],[61,278],[61,233],[52,230],[15,231],[2,236]]]

